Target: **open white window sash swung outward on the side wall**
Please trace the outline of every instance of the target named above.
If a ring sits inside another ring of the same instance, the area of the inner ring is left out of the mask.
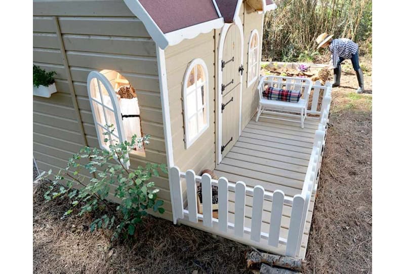
[[[109,150],[109,144],[113,140],[118,142],[125,140],[117,96],[111,83],[98,71],[91,71],[89,73],[87,77],[87,91],[100,147]],[[108,96],[106,96],[106,93]],[[114,131],[111,134],[103,134],[109,130],[106,125],[113,125]],[[108,139],[108,141],[106,142],[105,139]]]

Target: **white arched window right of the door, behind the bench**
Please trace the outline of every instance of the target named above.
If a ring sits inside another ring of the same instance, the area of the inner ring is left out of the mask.
[[[259,32],[252,30],[249,38],[248,50],[248,87],[250,87],[259,76]]]

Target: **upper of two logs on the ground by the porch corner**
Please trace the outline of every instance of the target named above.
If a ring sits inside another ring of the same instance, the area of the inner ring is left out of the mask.
[[[302,272],[305,270],[306,267],[306,261],[304,260],[288,256],[262,253],[255,248],[252,248],[252,251],[247,253],[246,259],[248,262],[248,268],[251,267],[253,264],[267,263],[270,266],[275,265]]]

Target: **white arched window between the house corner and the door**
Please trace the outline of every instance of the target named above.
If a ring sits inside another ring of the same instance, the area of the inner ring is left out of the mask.
[[[202,59],[188,65],[183,79],[183,112],[186,148],[209,127],[208,69]]]

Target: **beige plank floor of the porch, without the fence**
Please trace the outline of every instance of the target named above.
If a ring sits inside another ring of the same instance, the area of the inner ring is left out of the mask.
[[[230,182],[243,181],[247,186],[262,185],[266,191],[282,190],[293,197],[301,193],[305,173],[318,122],[306,120],[304,129],[300,124],[261,118],[252,120],[242,131],[238,141],[215,169],[215,173]],[[314,195],[306,220],[300,257],[305,257],[308,233],[311,226]],[[247,197],[245,222],[252,217],[252,197]],[[229,193],[229,219],[234,216],[234,193]],[[269,230],[271,202],[263,207],[262,231]],[[280,237],[287,238],[291,206],[285,205],[281,220]]]

